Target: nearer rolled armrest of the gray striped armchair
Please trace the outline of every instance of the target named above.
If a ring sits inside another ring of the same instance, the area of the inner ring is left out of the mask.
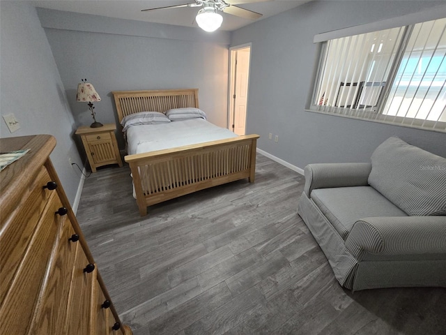
[[[358,257],[363,251],[380,255],[445,254],[446,216],[392,216],[356,221],[346,247]]]

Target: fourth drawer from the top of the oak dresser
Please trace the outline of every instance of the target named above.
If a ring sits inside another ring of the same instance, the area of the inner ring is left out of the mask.
[[[66,320],[68,334],[91,334],[91,301],[93,299],[93,281],[97,270],[86,272],[87,265],[89,265],[89,260],[87,260],[81,244],[78,243],[72,269]]]

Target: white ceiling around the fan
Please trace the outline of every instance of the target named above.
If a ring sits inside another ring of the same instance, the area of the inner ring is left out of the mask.
[[[259,20],[282,13],[311,0],[272,0],[259,3],[246,3],[239,7],[263,14]],[[200,8],[169,8],[141,12],[146,8],[173,6],[192,3],[194,0],[33,0],[33,6],[68,12],[118,17],[121,19],[175,24],[184,27],[198,27],[194,18]],[[220,30],[233,31],[251,24],[252,20],[223,14]]]

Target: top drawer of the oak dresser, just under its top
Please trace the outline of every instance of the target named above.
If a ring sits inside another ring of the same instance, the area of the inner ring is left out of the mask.
[[[0,235],[0,301],[5,298],[11,281],[15,276],[20,260],[31,241],[40,216],[47,205],[49,195],[56,191],[43,188],[47,184],[49,174],[40,168],[36,179],[26,188],[26,193],[9,217],[1,214]]]

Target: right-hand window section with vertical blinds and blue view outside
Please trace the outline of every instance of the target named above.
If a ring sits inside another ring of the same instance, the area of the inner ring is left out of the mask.
[[[383,114],[422,127],[446,121],[446,18],[415,24]],[[431,121],[431,122],[429,122]],[[432,124],[433,122],[433,124]]]

